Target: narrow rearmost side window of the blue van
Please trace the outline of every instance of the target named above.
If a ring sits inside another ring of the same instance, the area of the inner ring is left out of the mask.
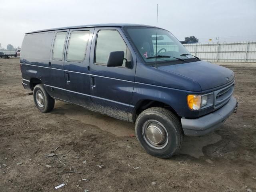
[[[68,32],[58,32],[56,33],[53,51],[52,51],[52,59],[53,60],[63,60],[64,55],[64,45],[66,42]]]

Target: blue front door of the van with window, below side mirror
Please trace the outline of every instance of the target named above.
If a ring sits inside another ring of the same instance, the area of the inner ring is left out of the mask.
[[[110,52],[124,51],[130,67],[108,67]],[[95,28],[90,55],[90,89],[94,109],[128,120],[136,69],[135,52],[120,28]]]

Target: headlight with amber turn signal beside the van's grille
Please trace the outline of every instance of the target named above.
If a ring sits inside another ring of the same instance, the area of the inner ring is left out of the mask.
[[[187,96],[188,107],[192,110],[199,110],[201,108],[206,108],[212,106],[213,104],[213,94],[205,95],[188,95]]]

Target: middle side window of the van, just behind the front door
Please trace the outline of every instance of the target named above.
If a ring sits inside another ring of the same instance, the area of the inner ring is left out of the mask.
[[[83,62],[90,31],[72,31],[68,41],[66,60],[71,62]]]

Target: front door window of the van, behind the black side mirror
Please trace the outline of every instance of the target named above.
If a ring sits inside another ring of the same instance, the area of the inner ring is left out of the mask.
[[[95,63],[106,65],[108,56],[113,51],[124,51],[124,58],[128,61],[132,58],[130,50],[118,31],[100,30],[96,42]]]

